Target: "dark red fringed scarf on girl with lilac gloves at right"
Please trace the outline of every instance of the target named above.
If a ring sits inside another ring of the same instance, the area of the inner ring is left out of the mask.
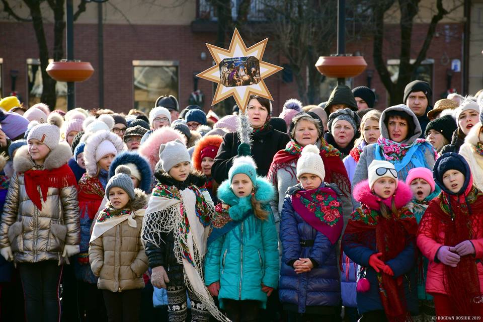
[[[463,200],[460,200],[464,196]],[[460,196],[442,192],[430,203],[420,223],[419,233],[435,236],[444,232],[445,246],[456,246],[461,241],[483,237],[483,193],[468,185]],[[425,232],[426,231],[426,232]],[[429,232],[429,233],[428,233]],[[461,257],[456,267],[444,266],[444,287],[457,315],[479,316],[478,306],[473,302],[480,295],[476,262],[472,255]]]

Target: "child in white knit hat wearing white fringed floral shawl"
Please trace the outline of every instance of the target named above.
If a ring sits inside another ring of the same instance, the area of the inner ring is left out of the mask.
[[[191,158],[184,143],[161,144],[162,171],[143,219],[141,238],[152,268],[152,285],[166,288],[170,321],[187,316],[186,291],[191,301],[192,320],[208,321],[210,313],[223,315],[203,282],[202,266],[210,218],[211,198],[202,187],[206,178],[191,172]]]

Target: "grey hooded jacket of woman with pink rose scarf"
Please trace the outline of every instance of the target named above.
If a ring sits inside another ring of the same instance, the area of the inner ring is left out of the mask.
[[[389,131],[387,130],[386,125],[384,124],[384,118],[386,113],[389,111],[401,111],[407,113],[414,122],[415,130],[414,133],[408,133],[408,137],[400,142],[406,144],[413,144],[416,139],[421,136],[422,130],[421,126],[419,125],[418,118],[416,115],[409,109],[401,106],[392,106],[385,109],[382,112],[381,118],[379,119],[379,128],[381,129],[381,136],[389,139]],[[433,147],[428,143],[417,143],[418,148],[415,151],[413,157],[409,160],[409,162],[404,165],[400,170],[398,170],[398,180],[406,180],[408,176],[408,172],[413,168],[424,167],[428,169],[433,169],[434,162],[435,162],[435,154]],[[355,187],[359,182],[366,180],[368,178],[367,169],[369,169],[369,165],[372,163],[374,159],[381,159],[381,156],[376,156],[376,147],[378,146],[377,143],[368,144],[362,148],[362,154],[359,158],[359,162],[356,166],[356,171],[354,173],[354,179],[352,180],[352,187]],[[420,157],[419,157],[420,156]],[[397,169],[397,163],[394,163],[391,160],[388,160],[390,163],[394,164]],[[402,165],[401,165],[402,166]],[[354,191],[354,190],[353,190]],[[357,208],[359,203],[355,201],[353,197],[353,205],[354,208]]]

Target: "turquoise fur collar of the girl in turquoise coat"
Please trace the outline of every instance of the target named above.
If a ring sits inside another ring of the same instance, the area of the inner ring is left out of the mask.
[[[257,177],[255,190],[255,199],[263,204],[267,205],[275,197],[275,189],[266,178]],[[243,218],[244,214],[252,209],[251,196],[244,198],[236,197],[230,188],[230,182],[228,180],[223,181],[218,187],[217,195],[218,199],[230,206],[228,214],[233,220]]]

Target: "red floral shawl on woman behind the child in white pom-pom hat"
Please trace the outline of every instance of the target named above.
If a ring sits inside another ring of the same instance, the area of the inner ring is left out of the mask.
[[[292,163],[297,162],[302,149],[303,146],[292,139],[290,142],[288,142],[285,149],[275,153],[267,175],[268,180],[270,180],[275,187],[277,187],[277,171],[281,169],[284,169],[286,172],[288,172],[291,178],[297,177],[296,169],[295,167],[291,167],[291,165]],[[327,144],[327,142],[321,138],[319,150],[320,157],[324,161],[324,169],[326,171],[326,177],[323,178],[325,182],[333,183],[333,172],[344,174],[345,177],[347,177],[347,171],[341,160],[341,152],[339,152],[338,149],[330,144]]]

